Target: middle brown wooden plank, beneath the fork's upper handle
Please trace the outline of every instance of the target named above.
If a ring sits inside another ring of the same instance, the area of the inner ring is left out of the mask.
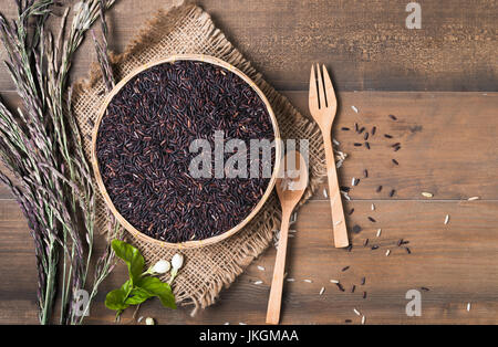
[[[310,116],[308,92],[283,95]],[[13,92],[2,96],[19,105]],[[498,200],[498,93],[359,92],[341,93],[338,98],[333,137],[349,155],[339,170],[340,185],[351,187],[353,177],[361,179],[350,193],[352,198],[388,199],[390,188],[395,188],[396,199],[421,199],[422,191],[429,191],[434,199],[479,196]],[[393,122],[390,114],[398,120]],[[365,126],[365,132],[377,127],[377,134],[369,139],[371,150],[354,147],[356,141],[364,143],[354,133],[354,123]],[[351,130],[343,132],[342,127]],[[387,139],[384,134],[394,138]],[[395,143],[402,144],[396,153],[391,147]],[[393,158],[400,166],[393,165]],[[364,169],[369,179],[363,179]],[[380,185],[383,191],[376,193]],[[8,189],[0,187],[0,198],[9,197]],[[315,196],[320,198],[324,199],[322,193]]]

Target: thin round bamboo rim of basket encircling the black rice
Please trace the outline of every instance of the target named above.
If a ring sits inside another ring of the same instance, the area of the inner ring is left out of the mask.
[[[234,227],[232,229],[212,236],[212,238],[208,238],[208,239],[204,239],[204,240],[194,240],[194,241],[186,241],[186,242],[179,242],[179,243],[170,243],[170,242],[165,242],[165,241],[160,241],[160,240],[156,240],[154,238],[151,238],[144,233],[142,233],[139,230],[137,230],[135,227],[133,227],[114,207],[114,203],[112,202],[107,190],[104,186],[104,182],[102,180],[102,176],[101,176],[101,171],[98,168],[98,162],[97,162],[97,156],[96,156],[96,139],[97,139],[97,134],[98,134],[98,127],[101,125],[102,118],[105,114],[105,111],[107,109],[107,106],[110,104],[110,102],[112,101],[112,98],[114,97],[114,95],[116,95],[120,90],[131,80],[133,78],[135,75],[139,74],[141,72],[155,66],[155,65],[159,65],[159,64],[164,64],[164,63],[170,63],[170,62],[175,62],[175,61],[181,61],[181,60],[188,60],[188,61],[200,61],[200,62],[205,62],[205,63],[210,63],[214,65],[218,65],[221,67],[225,67],[226,70],[237,74],[240,78],[242,78],[247,84],[249,84],[252,90],[259,95],[259,97],[261,98],[261,101],[264,103],[268,114],[270,115],[271,118],[271,124],[273,126],[273,134],[274,134],[274,139],[276,139],[276,160],[274,160],[274,165],[273,165],[273,171],[271,175],[271,179],[270,179],[270,183],[268,185],[267,190],[264,191],[264,194],[261,197],[261,200],[257,203],[257,206],[252,209],[252,211],[240,222],[238,223],[236,227]],[[268,198],[271,194],[271,191],[273,190],[276,180],[277,180],[277,175],[279,172],[279,168],[280,168],[280,160],[279,158],[281,157],[281,151],[282,151],[282,144],[280,140],[280,132],[279,132],[279,127],[277,124],[277,118],[274,116],[273,109],[271,108],[270,103],[268,102],[267,97],[264,96],[264,94],[261,92],[261,90],[255,84],[255,82],[252,82],[251,78],[249,78],[246,74],[243,74],[241,71],[239,71],[237,67],[230,65],[229,63],[219,60],[215,56],[209,56],[209,55],[204,55],[204,54],[178,54],[178,55],[172,55],[167,59],[157,61],[157,62],[153,62],[153,63],[147,63],[144,64],[137,69],[135,69],[133,72],[131,72],[126,77],[124,77],[120,83],[117,83],[115,85],[115,87],[111,91],[111,93],[108,93],[108,95],[105,97],[102,106],[98,109],[98,115],[97,115],[97,119],[95,122],[95,127],[93,129],[93,135],[92,135],[92,166],[93,166],[93,170],[95,172],[95,179],[98,186],[98,190],[102,193],[105,203],[107,204],[107,207],[110,208],[110,210],[112,211],[112,213],[114,214],[114,217],[116,218],[116,220],[128,231],[131,232],[133,235],[135,235],[136,238],[138,238],[142,241],[148,242],[148,243],[153,243],[153,244],[157,244],[164,248],[173,248],[173,249],[186,249],[186,248],[199,248],[199,246],[205,246],[208,244],[214,244],[217,242],[220,242],[222,240],[226,240],[228,238],[230,238],[231,235],[234,235],[235,233],[237,233],[239,230],[241,230],[257,213],[258,211],[262,208],[262,206],[264,204],[264,202],[268,200]]]

